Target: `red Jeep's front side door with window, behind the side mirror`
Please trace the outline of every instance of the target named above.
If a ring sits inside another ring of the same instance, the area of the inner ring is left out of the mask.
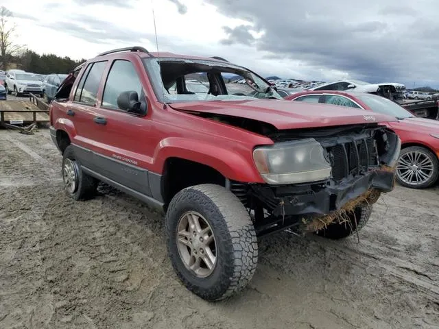
[[[146,101],[145,92],[135,66],[129,60],[114,60],[108,71],[102,101],[95,115],[104,124],[95,124],[99,154],[95,164],[99,174],[124,187],[151,196],[148,184],[148,165],[152,162],[149,116],[128,113],[117,106],[123,91],[135,91],[139,101]]]

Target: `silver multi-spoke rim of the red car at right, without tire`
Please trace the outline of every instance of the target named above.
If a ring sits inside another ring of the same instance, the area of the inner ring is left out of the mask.
[[[431,178],[433,171],[433,161],[427,154],[420,151],[403,154],[396,164],[399,179],[410,185],[424,184]]]

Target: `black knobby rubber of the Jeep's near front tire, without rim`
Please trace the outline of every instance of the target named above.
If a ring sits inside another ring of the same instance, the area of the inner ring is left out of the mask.
[[[177,225],[188,211],[209,222],[216,242],[216,265],[206,278],[187,269],[177,246]],[[246,287],[257,267],[258,245],[250,215],[239,199],[215,184],[190,186],[171,200],[166,213],[167,248],[178,278],[204,300],[224,300]]]

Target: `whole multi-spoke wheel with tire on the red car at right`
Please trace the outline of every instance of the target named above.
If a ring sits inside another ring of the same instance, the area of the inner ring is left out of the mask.
[[[425,147],[401,150],[396,163],[396,181],[405,187],[427,188],[438,180],[438,158]]]

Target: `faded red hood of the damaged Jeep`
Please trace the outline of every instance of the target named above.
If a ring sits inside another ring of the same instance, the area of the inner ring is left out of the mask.
[[[262,121],[278,130],[396,121],[394,117],[366,110],[278,99],[193,101],[169,105],[176,110]]]

